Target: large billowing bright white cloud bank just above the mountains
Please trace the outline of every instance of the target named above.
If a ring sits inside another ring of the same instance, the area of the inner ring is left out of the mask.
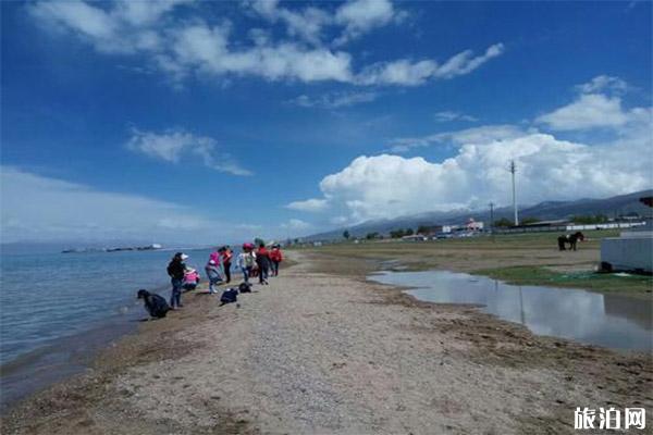
[[[652,111],[638,110],[637,121],[619,138],[603,145],[560,140],[553,135],[519,132],[492,140],[453,134],[457,153],[442,162],[381,154],[359,157],[320,183],[323,199],[340,213],[332,223],[395,217],[427,211],[507,204],[507,165],[518,167],[519,202],[606,197],[653,187]],[[478,132],[476,132],[478,133]],[[467,140],[466,140],[467,138]],[[335,219],[335,217],[334,217]]]

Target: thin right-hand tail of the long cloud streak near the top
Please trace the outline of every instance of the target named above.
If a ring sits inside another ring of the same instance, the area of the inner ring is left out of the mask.
[[[402,85],[419,86],[429,79],[449,79],[466,75],[504,52],[503,44],[495,44],[484,54],[473,57],[471,50],[465,50],[439,65],[434,60],[412,62],[402,59],[381,62],[365,67],[356,77],[361,85]]]

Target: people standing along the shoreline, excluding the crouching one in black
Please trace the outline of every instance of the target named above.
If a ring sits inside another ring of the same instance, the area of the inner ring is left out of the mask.
[[[186,265],[188,256],[183,252],[176,252],[168,264],[168,275],[172,284],[172,294],[170,297],[171,309],[183,307],[183,290],[194,290],[199,284],[200,276],[197,270]],[[209,293],[215,294],[217,286],[222,283],[231,283],[231,266],[233,251],[229,246],[217,248],[209,254],[209,260],[205,266],[205,272],[209,282]],[[280,245],[273,245],[270,250],[264,244],[259,244],[258,248],[254,244],[243,244],[243,250],[237,257],[237,268],[243,273],[245,283],[249,283],[250,277],[258,276],[259,284],[267,285],[269,276],[279,275],[279,265],[283,261],[283,253]]]

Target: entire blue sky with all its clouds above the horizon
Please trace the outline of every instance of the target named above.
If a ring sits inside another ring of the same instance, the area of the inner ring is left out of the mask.
[[[2,5],[2,239],[213,243],[653,186],[650,2]]]

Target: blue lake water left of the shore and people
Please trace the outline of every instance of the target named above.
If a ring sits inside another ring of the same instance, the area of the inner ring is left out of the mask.
[[[209,250],[186,250],[200,273]],[[139,288],[170,296],[173,251],[2,254],[0,408],[84,369],[146,313]],[[204,275],[204,273],[202,273]]]

